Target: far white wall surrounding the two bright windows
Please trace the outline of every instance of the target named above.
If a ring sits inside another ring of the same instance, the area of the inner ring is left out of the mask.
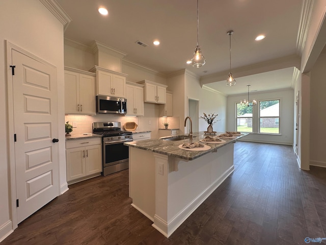
[[[266,142],[266,143],[278,143],[278,144],[293,144],[293,124],[294,124],[294,111],[293,100],[294,91],[292,89],[278,90],[262,93],[250,93],[251,99],[258,101],[257,105],[253,108],[253,124],[258,125],[258,110],[259,100],[280,100],[280,135],[266,135],[251,133],[243,138],[243,140]],[[227,130],[236,130],[236,103],[246,98],[248,94],[230,95],[228,96],[227,106]]]

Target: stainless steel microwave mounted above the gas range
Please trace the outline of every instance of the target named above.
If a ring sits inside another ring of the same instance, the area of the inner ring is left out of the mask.
[[[125,114],[127,113],[127,99],[96,95],[96,113]]]

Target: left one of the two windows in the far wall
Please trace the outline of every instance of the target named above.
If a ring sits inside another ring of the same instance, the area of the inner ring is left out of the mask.
[[[236,103],[236,131],[253,132],[253,107]]]

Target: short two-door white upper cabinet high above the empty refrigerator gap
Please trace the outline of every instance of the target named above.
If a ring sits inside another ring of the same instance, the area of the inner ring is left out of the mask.
[[[167,85],[154,83],[149,80],[143,80],[138,82],[139,84],[145,85],[145,102],[165,104],[166,103],[166,92]]]

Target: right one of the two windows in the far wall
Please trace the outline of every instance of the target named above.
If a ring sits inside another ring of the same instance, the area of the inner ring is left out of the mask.
[[[280,100],[259,102],[259,133],[280,133]]]

